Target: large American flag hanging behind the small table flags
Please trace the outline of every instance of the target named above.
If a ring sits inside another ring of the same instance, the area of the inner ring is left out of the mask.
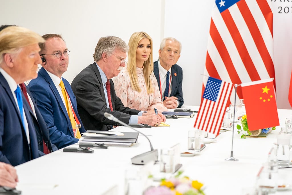
[[[275,77],[270,0],[215,1],[204,75],[237,84]]]

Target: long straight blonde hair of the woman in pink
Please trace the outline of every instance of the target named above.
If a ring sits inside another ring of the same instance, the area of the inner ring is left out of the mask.
[[[145,83],[147,86],[147,93],[151,94],[154,92],[154,88],[152,86],[152,82],[150,80],[150,75],[153,71],[153,54],[152,54],[152,39],[146,32],[134,32],[129,40],[129,51],[128,51],[128,73],[131,80],[131,87],[137,91],[141,92],[141,88],[138,84],[138,77],[137,77],[137,71],[136,71],[136,53],[138,44],[141,39],[147,38],[150,41],[150,56],[149,58],[143,63],[143,74],[145,78]]]

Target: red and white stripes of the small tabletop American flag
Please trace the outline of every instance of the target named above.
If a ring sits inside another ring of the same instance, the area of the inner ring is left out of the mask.
[[[219,133],[232,89],[232,83],[222,81],[216,101],[203,98],[194,125],[195,128],[213,134]]]

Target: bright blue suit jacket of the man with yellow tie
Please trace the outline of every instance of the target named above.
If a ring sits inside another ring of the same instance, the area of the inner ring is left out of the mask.
[[[66,79],[62,78],[62,80],[70,97],[72,107],[81,123],[79,131],[80,133],[85,132],[77,112],[76,98],[70,84]],[[51,142],[55,144],[58,149],[76,143],[78,139],[74,138],[72,125],[65,105],[53,80],[44,68],[41,68],[36,79],[29,82],[28,89],[32,93],[36,105],[49,127]]]

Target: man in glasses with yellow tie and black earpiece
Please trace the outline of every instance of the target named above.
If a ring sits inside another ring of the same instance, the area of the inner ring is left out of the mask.
[[[46,40],[40,44],[42,68],[28,87],[48,125],[51,142],[60,149],[76,143],[85,129],[70,84],[62,78],[70,51],[59,34],[42,37]]]

